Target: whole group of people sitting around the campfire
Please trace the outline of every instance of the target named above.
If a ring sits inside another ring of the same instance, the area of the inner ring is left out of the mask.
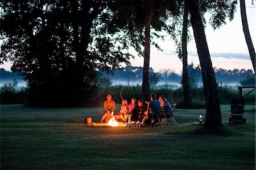
[[[105,113],[102,116],[100,123],[104,121],[104,119],[106,119],[106,122],[108,122],[109,118],[115,116],[115,102],[113,101],[111,94],[108,94],[106,98],[107,99],[104,101],[103,104]],[[160,118],[161,107],[167,108],[167,112],[171,113],[171,104],[167,101],[165,97],[160,96],[159,99],[157,100],[156,94],[152,93],[150,94],[150,99],[150,102],[146,102],[143,101],[143,99],[139,99],[138,103],[136,103],[137,99],[132,98],[131,103],[129,104],[126,99],[123,99],[121,109],[118,113],[119,117],[121,118],[121,121],[126,123],[127,120],[131,118],[131,115],[133,113],[139,113],[139,121],[141,122],[141,125],[144,126],[150,124],[151,118]]]

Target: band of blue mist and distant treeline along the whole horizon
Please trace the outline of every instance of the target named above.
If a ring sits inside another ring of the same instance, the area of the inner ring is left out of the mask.
[[[200,67],[195,67],[193,64],[188,65],[190,82],[192,85],[203,86],[201,78]],[[141,86],[142,85],[142,67],[125,67],[123,70],[115,69],[112,73],[106,73],[105,71],[99,71],[102,78],[102,86]],[[246,80],[248,76],[253,74],[251,70],[245,69],[234,69],[233,71],[228,71],[225,69],[215,69],[216,80],[222,85],[228,85],[232,87],[241,86],[241,81]],[[26,87],[26,81],[19,73],[13,73],[6,71],[5,69],[0,69],[0,86],[11,83],[15,84],[16,89]],[[170,69],[163,69],[159,72],[154,72],[150,69],[150,81],[151,87],[154,88],[171,88],[177,89],[182,86],[181,84],[182,75],[176,74]]]

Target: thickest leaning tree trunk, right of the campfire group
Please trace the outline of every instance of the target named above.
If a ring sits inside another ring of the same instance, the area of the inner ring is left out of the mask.
[[[214,130],[214,128],[222,126],[220,99],[218,98],[216,79],[214,76],[212,61],[210,60],[210,53],[205,37],[199,0],[187,0],[185,2],[187,2],[189,13],[191,14],[191,24],[203,77],[206,105],[204,126]]]

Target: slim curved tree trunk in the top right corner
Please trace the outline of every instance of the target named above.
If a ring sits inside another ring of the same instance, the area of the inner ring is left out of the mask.
[[[251,41],[251,35],[249,32],[249,27],[248,27],[248,23],[247,23],[245,0],[240,0],[240,10],[241,10],[242,25],[243,25],[243,34],[245,34],[245,40],[247,43],[247,47],[249,49],[251,63],[253,63],[253,69],[254,69],[254,74],[255,74],[255,49],[253,47],[253,42]]]

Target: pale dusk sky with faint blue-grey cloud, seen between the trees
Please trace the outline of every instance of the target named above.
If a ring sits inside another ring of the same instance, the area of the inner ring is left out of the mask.
[[[254,48],[256,40],[256,26],[255,16],[256,8],[251,5],[251,0],[246,0],[246,14],[249,24],[249,30],[251,39],[253,40]],[[207,36],[207,43],[210,51],[210,57],[212,59],[213,67],[224,69],[252,69],[247,44],[245,42],[245,36],[243,34],[241,14],[239,2],[237,5],[237,11],[234,14],[234,19],[230,22],[226,20],[226,25],[223,25],[217,30],[213,30],[212,27],[207,24],[205,34]],[[208,18],[208,17],[206,17]],[[208,20],[208,19],[207,19]],[[191,34],[192,28],[190,28]],[[178,59],[175,50],[175,44],[171,41],[170,37],[166,36],[164,41],[157,41],[163,51],[158,51],[151,46],[150,49],[150,67],[155,72],[159,72],[160,69],[171,69],[174,72],[181,74],[182,62]],[[136,52],[131,50],[131,53],[136,55]],[[135,59],[130,60],[132,66],[143,67],[143,57],[136,56]],[[194,63],[199,65],[199,57],[197,56],[197,49],[195,40],[192,39],[188,44],[188,63]],[[11,63],[4,63],[0,65],[0,68],[5,68],[10,71]]]

